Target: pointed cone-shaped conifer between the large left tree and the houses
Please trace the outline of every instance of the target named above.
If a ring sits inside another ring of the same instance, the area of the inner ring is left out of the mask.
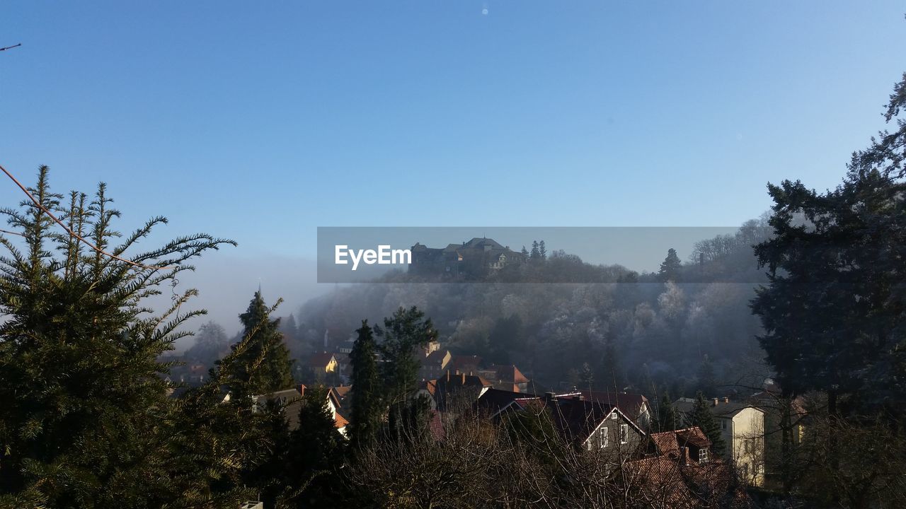
[[[233,345],[241,344],[238,358],[231,365],[231,377],[235,380],[230,389],[237,395],[265,394],[280,389],[293,387],[293,361],[279,331],[280,319],[270,319],[270,314],[283,302],[279,299],[273,307],[267,307],[261,291],[248,304],[246,312],[239,315],[242,321],[244,337]]]

